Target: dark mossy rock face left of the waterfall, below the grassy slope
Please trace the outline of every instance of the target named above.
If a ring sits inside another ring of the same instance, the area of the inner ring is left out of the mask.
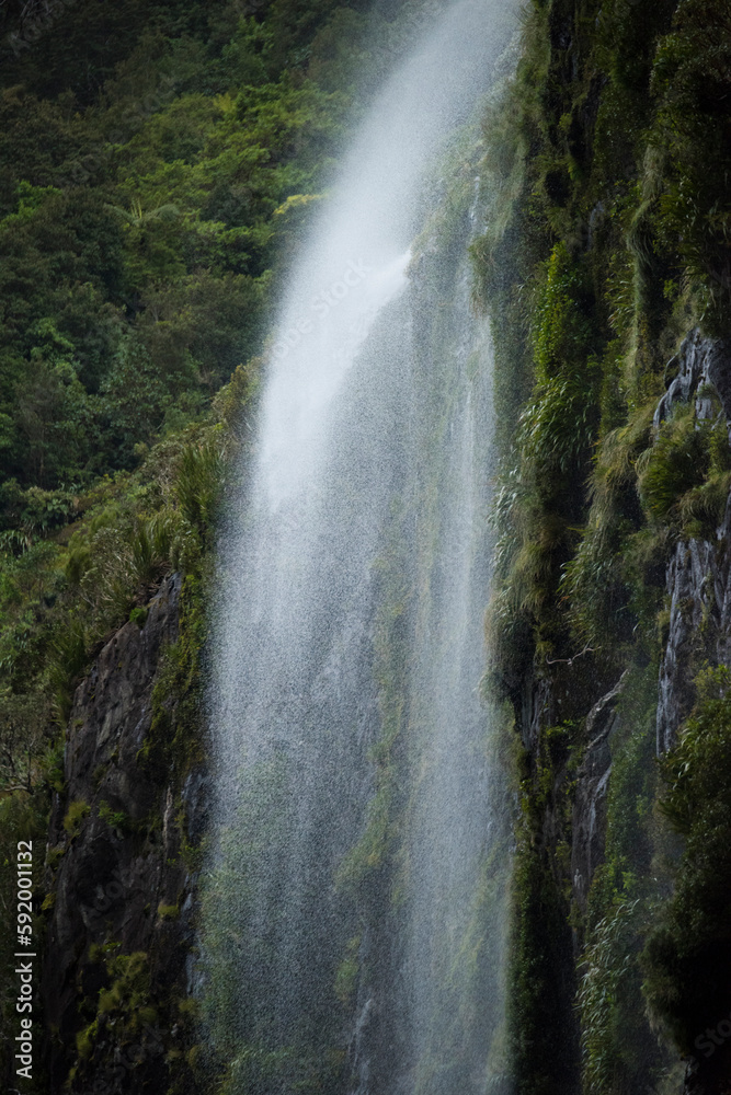
[[[194,937],[196,876],[181,854],[183,833],[199,833],[205,819],[203,773],[176,788],[159,752],[157,763],[150,759],[152,692],[178,639],[180,599],[173,575],[144,625],[127,623],[106,643],[73,699],[66,793],[56,795],[47,857],[55,904],[43,998],[54,1031],[52,1092],[67,1083],[75,1061],[65,1091],[168,1087],[164,1056],[178,1031],[165,1013],[171,995],[190,991]],[[164,702],[173,708],[170,733],[174,700]]]

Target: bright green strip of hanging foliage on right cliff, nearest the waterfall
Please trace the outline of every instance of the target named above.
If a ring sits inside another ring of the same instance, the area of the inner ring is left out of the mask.
[[[505,695],[528,661],[532,643],[550,649],[564,642],[558,588],[584,511],[598,427],[601,370],[590,354],[583,278],[564,246],[553,249],[537,276],[535,383],[518,419],[515,464],[503,472],[494,509],[500,584],[490,635],[493,678]]]

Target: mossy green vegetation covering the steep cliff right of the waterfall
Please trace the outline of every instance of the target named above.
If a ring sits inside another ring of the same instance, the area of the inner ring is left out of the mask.
[[[731,326],[728,21],[715,0],[536,0],[516,77],[486,119],[483,185],[494,196],[473,258],[499,332],[504,423],[491,680],[528,746],[512,1025],[518,1091],[532,1095],[675,1091],[673,1062],[731,1003],[720,982],[701,1000],[709,963],[726,969],[718,918],[729,892],[723,856],[701,835],[728,835],[728,788],[720,769],[719,782],[705,774],[722,752],[713,735],[727,703],[711,670],[663,762],[667,792],[653,760],[666,565],[678,542],[716,540],[730,485],[717,393],[693,393],[706,401],[703,420],[687,395],[655,415],[683,337],[695,327],[727,337]],[[582,906],[566,799],[586,715],[628,667],[604,863]],[[703,699],[708,679],[713,700]],[[562,726],[578,727],[568,757],[552,746]],[[679,857],[667,817],[684,835]],[[578,1005],[581,1080],[547,1048],[570,1050],[546,1024],[557,993]]]

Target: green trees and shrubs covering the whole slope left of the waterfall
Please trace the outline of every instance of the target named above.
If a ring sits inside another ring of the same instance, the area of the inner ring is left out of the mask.
[[[50,797],[64,794],[73,690],[115,627],[141,626],[173,569],[190,611],[156,693],[148,760],[184,768],[194,751],[201,581],[229,457],[249,443],[256,355],[345,127],[419,13],[329,0],[0,5],[7,908],[15,841],[43,848]],[[80,826],[90,807],[76,809]],[[38,860],[38,906],[39,872]],[[114,961],[107,996],[124,980]],[[10,1034],[4,975],[0,995]],[[117,995],[105,1014],[136,999]],[[90,1017],[77,1083],[94,1051]],[[37,1061],[42,1090],[41,1048]]]

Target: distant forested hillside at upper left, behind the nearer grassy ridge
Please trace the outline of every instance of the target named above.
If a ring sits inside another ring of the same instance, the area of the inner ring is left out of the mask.
[[[75,494],[136,466],[261,348],[272,272],[307,217],[281,210],[321,189],[357,101],[353,59],[359,93],[401,33],[325,3],[288,12],[289,55],[285,7],[126,0],[115,35],[122,9],[100,22],[79,0],[54,13],[61,35],[3,59],[0,487]]]

